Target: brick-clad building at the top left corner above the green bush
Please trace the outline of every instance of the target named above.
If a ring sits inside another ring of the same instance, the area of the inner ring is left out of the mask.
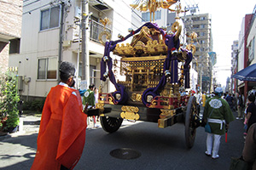
[[[22,1],[0,1],[0,71],[9,66],[9,54],[20,53]]]

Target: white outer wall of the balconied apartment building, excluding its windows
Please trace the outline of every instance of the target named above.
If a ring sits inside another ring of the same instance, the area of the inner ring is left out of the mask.
[[[41,11],[49,8],[50,0],[44,1],[26,1],[24,3],[22,31],[20,40],[20,54],[12,54],[9,59],[9,66],[17,66],[18,74],[23,77],[22,95],[33,97],[46,97],[51,87],[54,87],[58,82],[54,80],[38,80],[38,59],[52,58],[58,59],[59,56],[59,27],[49,30],[40,31]],[[113,1],[104,0],[110,8],[98,11],[96,8],[90,6],[89,10],[97,18],[104,19],[108,17],[111,20],[108,28],[113,29],[112,40],[118,40],[118,34],[123,36],[129,34],[128,28],[131,28],[131,8],[129,2],[123,0]],[[89,4],[90,5],[90,4]],[[67,10],[64,14],[63,26],[63,48],[62,60],[73,62],[78,66],[78,52],[79,60],[81,61],[81,42],[79,45],[79,26],[74,23],[74,15],[76,14],[77,6],[81,8],[81,0],[67,2]],[[60,17],[61,18],[61,17]],[[82,32],[80,32],[80,36]],[[90,35],[88,35],[90,37]],[[128,40],[131,42],[131,39]],[[64,42],[70,42],[70,46],[64,46]],[[80,47],[80,50],[79,50]],[[100,59],[104,53],[104,46],[98,42],[90,41],[88,44],[90,53],[90,65],[95,65],[96,70],[100,70]],[[113,56],[113,59],[115,56]],[[57,71],[57,74],[58,71]],[[110,89],[107,82],[100,82],[100,74],[96,71],[96,86],[101,83],[107,84],[107,91]],[[25,80],[31,79],[30,82]]]

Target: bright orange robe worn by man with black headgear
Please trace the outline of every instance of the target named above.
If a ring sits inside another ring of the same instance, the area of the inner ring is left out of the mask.
[[[82,110],[79,91],[61,85],[51,88],[44,103],[32,170],[75,167],[82,156],[87,127]]]

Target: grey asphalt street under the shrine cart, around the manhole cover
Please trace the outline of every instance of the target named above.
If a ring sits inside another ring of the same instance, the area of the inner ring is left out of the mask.
[[[236,114],[236,113],[235,113]],[[24,117],[23,133],[12,133],[0,137],[0,169],[27,170],[32,166],[37,148],[38,123],[40,118]],[[188,169],[188,170],[226,170],[230,167],[230,157],[241,156],[244,144],[243,124],[236,120],[230,124],[228,143],[221,139],[218,160],[204,154],[206,133],[197,128],[195,145],[187,150],[185,146],[184,125],[176,124],[164,129],[156,123],[123,122],[116,133],[106,133],[102,127],[86,131],[84,153],[74,168],[106,169]],[[129,148],[141,154],[137,159],[124,160],[110,156],[112,150]]]

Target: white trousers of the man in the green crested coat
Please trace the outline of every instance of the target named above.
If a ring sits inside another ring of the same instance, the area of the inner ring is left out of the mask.
[[[207,133],[207,152],[212,154],[213,157],[218,155],[221,135]]]

